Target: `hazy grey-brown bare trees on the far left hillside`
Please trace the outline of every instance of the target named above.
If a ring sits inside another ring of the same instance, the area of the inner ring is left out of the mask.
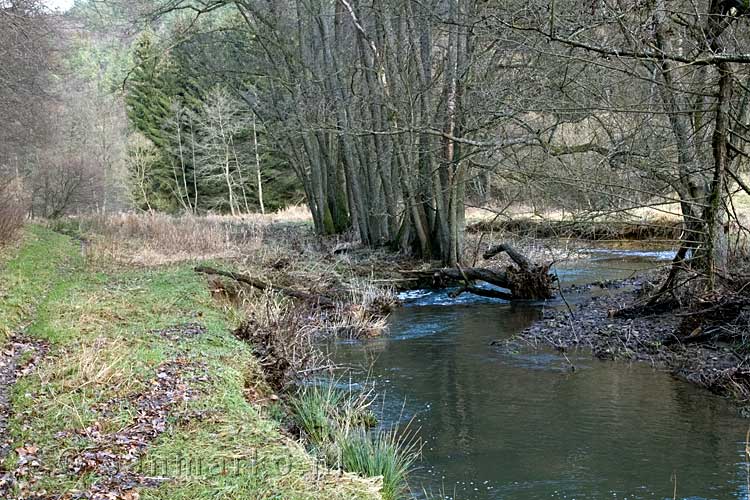
[[[41,2],[0,2],[0,171],[22,178],[32,215],[122,207],[125,118],[111,64],[87,57],[98,43]]]

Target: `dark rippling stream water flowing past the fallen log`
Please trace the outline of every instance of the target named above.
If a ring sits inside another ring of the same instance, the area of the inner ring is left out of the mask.
[[[623,278],[671,257],[591,256],[580,269],[559,269],[563,283]],[[571,372],[554,351],[490,346],[530,325],[544,305],[469,295],[456,302],[444,292],[406,298],[388,335],[338,342],[332,354],[355,367],[355,382],[384,394],[382,425],[412,420],[418,428],[415,497],[748,498],[750,421],[722,399],[644,364],[580,353],[569,355]]]

